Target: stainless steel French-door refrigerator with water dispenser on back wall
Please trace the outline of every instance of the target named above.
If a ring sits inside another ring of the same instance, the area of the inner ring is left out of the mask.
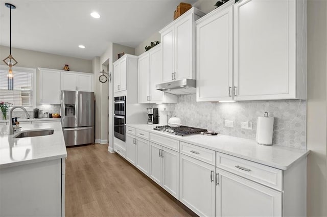
[[[94,93],[61,91],[61,125],[66,146],[94,143]]]

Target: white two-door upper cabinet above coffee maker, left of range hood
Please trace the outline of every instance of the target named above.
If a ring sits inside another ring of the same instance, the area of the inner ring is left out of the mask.
[[[161,44],[138,57],[138,103],[176,103],[177,96],[155,88],[162,81]]]

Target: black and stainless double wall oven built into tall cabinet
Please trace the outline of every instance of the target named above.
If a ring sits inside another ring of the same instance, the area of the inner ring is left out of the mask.
[[[126,96],[114,97],[114,137],[125,142]]]

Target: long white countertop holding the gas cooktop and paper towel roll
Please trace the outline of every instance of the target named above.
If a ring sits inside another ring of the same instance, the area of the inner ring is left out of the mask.
[[[281,170],[289,169],[295,162],[303,157],[306,157],[310,152],[309,150],[301,150],[277,145],[259,145],[253,140],[231,137],[229,135],[222,134],[197,134],[181,137],[179,135],[154,130],[153,127],[158,126],[158,124],[126,124],[126,126],[146,130],[151,133],[165,135],[181,142],[190,143],[246,160],[251,160],[253,162],[258,162],[259,164]]]

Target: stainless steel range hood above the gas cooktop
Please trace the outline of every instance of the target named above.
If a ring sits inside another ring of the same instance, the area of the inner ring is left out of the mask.
[[[155,88],[174,95],[196,94],[196,80],[172,80],[171,82],[158,84]]]

